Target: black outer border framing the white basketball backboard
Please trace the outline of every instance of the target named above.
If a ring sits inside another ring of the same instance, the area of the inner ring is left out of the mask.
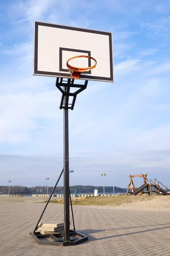
[[[34,74],[36,76],[53,76],[53,77],[59,77],[59,78],[71,78],[71,75],[69,72],[65,73],[57,73],[57,72],[49,72],[49,71],[41,71],[38,70],[38,26],[48,26],[48,27],[54,27],[59,29],[68,29],[68,30],[74,30],[79,32],[88,32],[88,33],[94,33],[99,35],[107,35],[109,37],[109,58],[110,58],[110,77],[104,77],[104,76],[88,76],[87,74],[81,74],[80,79],[83,80],[92,80],[92,81],[105,81],[105,82],[113,82],[113,49],[112,49],[112,33],[111,32],[104,32],[104,31],[98,31],[93,29],[83,29],[83,28],[77,28],[72,26],[63,26],[63,25],[57,25],[52,23],[44,23],[44,22],[38,22],[35,21],[35,27],[34,27]],[[69,38],[68,38],[69,40]],[[62,49],[62,48],[61,48]],[[60,49],[60,51],[61,51]],[[67,49],[68,50],[68,49]],[[82,49],[70,49],[75,52],[86,52],[82,51]],[[88,55],[91,55],[91,52],[89,51]],[[90,64],[89,64],[90,65]],[[104,65],[104,64],[103,64]],[[90,73],[89,73],[90,74]]]

